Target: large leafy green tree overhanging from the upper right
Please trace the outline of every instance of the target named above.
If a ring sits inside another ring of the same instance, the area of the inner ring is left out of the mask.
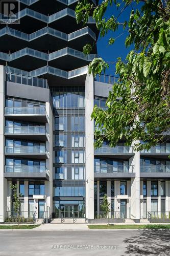
[[[119,13],[106,19],[105,12],[111,6]],[[118,19],[128,6],[131,7],[129,20],[120,23]],[[115,61],[118,81],[109,93],[108,110],[94,106],[91,116],[96,125],[95,147],[102,146],[104,140],[113,147],[126,138],[127,145],[136,141],[135,150],[149,150],[169,133],[170,1],[123,0],[120,4],[117,0],[105,0],[97,6],[88,0],[78,3],[78,23],[83,20],[85,24],[91,14],[100,36],[123,26],[128,31],[125,46],[133,46],[125,61],[121,58]],[[115,39],[110,38],[108,44],[114,44]],[[89,54],[93,47],[84,46],[84,54]],[[102,58],[94,58],[88,72],[95,77],[108,67],[109,63]]]

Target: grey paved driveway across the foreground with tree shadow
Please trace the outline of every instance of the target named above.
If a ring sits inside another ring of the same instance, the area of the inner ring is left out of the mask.
[[[170,230],[0,231],[0,255],[170,255]]]

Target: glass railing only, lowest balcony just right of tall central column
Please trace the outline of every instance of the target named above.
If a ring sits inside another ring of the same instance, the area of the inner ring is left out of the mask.
[[[134,165],[94,166],[94,173],[133,173]]]

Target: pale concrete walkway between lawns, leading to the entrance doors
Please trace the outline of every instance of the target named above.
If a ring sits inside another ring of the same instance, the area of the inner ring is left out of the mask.
[[[87,224],[73,224],[73,223],[69,223],[69,224],[43,224],[39,227],[34,228],[33,230],[53,230],[53,231],[57,231],[57,230],[89,230]]]

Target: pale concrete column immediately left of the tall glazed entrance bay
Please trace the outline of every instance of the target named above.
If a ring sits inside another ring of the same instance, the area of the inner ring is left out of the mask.
[[[47,206],[50,207],[50,214],[53,212],[53,100],[45,103],[46,113],[49,117],[46,123],[46,130],[49,134],[49,138],[46,141],[46,149],[50,154],[50,157],[46,159],[46,167],[49,171],[49,181],[45,181],[45,210]]]

